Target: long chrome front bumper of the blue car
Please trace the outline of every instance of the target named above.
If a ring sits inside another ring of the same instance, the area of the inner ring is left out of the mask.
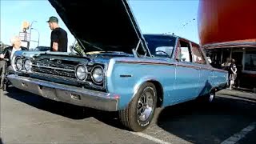
[[[26,78],[15,74],[10,74],[7,78],[11,84],[18,89],[26,90],[54,101],[91,107],[98,110],[118,110],[119,96],[116,94],[82,89],[35,78]]]

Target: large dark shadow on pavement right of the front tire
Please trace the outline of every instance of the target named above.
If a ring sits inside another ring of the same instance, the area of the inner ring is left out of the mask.
[[[213,103],[198,101],[168,106],[158,115],[157,125],[192,143],[221,143],[254,122],[256,103],[217,97]]]

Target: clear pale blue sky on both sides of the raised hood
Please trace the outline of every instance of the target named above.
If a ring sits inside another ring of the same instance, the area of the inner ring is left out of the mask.
[[[10,38],[21,31],[22,22],[33,22],[32,27],[40,33],[40,46],[50,46],[50,28],[46,22],[50,16],[58,14],[47,0],[1,0],[1,37],[10,44]],[[198,41],[197,13],[198,0],[130,0],[130,7],[142,33],[174,34]],[[195,18],[195,20],[193,20]],[[67,31],[69,46],[74,36],[59,18],[59,25]],[[32,30],[31,39],[38,39],[38,32]],[[37,43],[31,42],[31,47]]]

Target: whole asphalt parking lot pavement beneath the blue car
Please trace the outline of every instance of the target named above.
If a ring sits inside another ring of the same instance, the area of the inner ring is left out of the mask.
[[[141,133],[114,112],[54,102],[11,88],[1,91],[1,139],[6,143],[256,143],[256,94],[222,90],[214,103],[158,109]],[[255,127],[255,128],[254,128]]]

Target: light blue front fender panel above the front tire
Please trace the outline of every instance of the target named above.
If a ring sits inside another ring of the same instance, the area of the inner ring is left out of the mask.
[[[144,82],[158,82],[162,85],[162,90],[173,90],[173,79],[173,66],[115,62],[111,59],[106,71],[106,89],[109,93],[119,95],[118,108],[122,110],[128,106]]]

